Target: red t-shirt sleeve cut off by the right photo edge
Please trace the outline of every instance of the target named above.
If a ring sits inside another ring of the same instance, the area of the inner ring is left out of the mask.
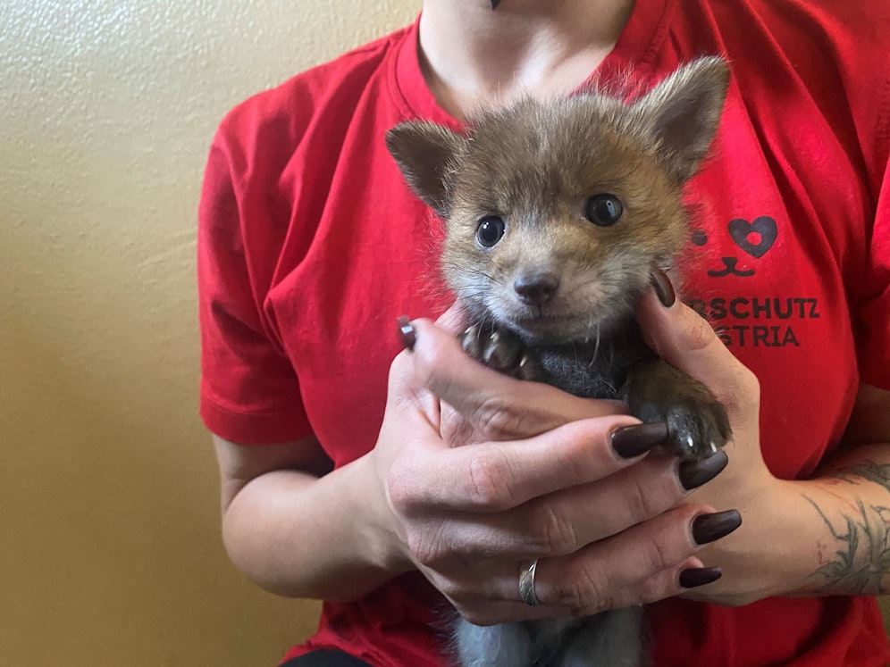
[[[877,197],[866,285],[857,315],[861,379],[890,389],[890,164]]]

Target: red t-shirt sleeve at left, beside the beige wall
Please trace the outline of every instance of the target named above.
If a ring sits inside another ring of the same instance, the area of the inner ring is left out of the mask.
[[[264,318],[268,286],[258,264],[263,255],[272,261],[275,250],[250,253],[256,241],[247,237],[264,221],[246,220],[256,212],[245,192],[245,160],[232,143],[222,129],[214,138],[198,209],[200,413],[208,429],[233,442],[290,442],[312,429],[293,364]]]

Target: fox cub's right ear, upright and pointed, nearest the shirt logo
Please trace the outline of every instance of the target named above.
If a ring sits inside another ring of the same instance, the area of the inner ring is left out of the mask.
[[[633,104],[659,146],[659,158],[679,183],[693,177],[717,132],[729,68],[723,58],[700,58],[679,68]]]

